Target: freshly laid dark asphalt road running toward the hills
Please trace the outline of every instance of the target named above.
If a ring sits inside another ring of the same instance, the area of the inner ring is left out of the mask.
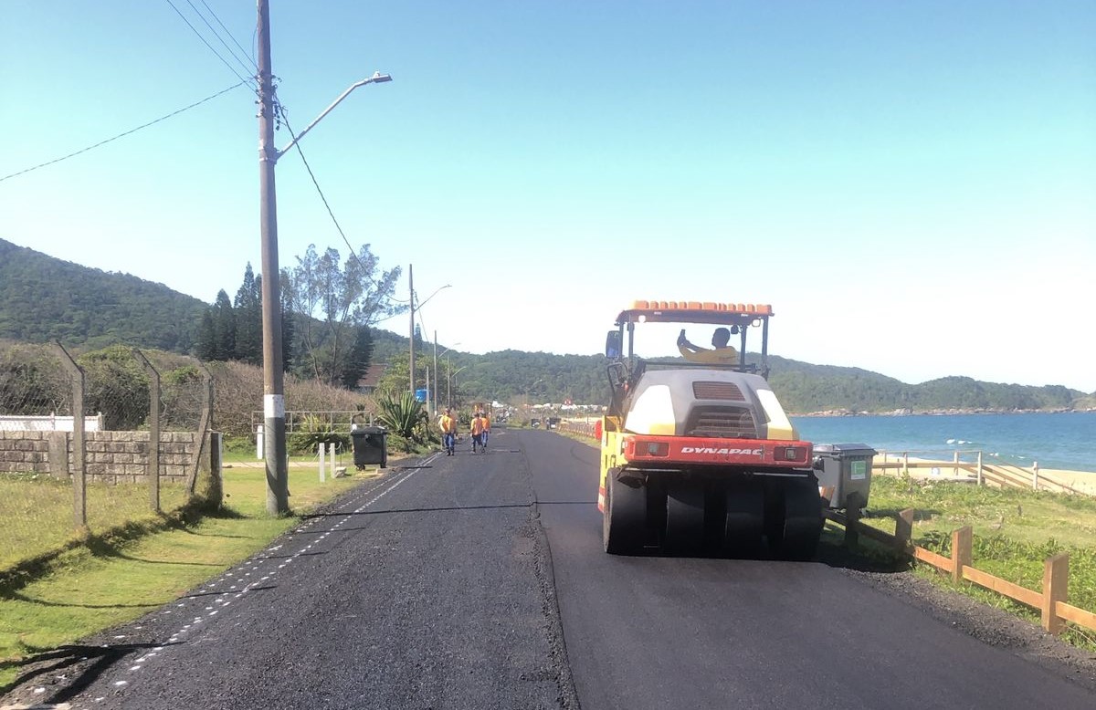
[[[1065,671],[832,564],[607,556],[595,467],[582,443],[499,430],[487,455],[466,447],[390,469],[176,604],[70,652],[87,657],[16,699],[173,710],[1096,707]]]

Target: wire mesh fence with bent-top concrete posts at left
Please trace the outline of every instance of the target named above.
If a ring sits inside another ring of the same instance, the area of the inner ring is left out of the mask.
[[[0,342],[0,576],[205,494],[212,420],[193,359]]]

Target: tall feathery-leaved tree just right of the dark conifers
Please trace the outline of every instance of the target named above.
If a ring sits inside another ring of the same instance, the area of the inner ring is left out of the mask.
[[[361,359],[351,365],[358,328],[368,328],[406,307],[392,302],[397,266],[379,271],[377,257],[363,244],[357,254],[340,263],[339,251],[323,254],[309,244],[297,265],[282,272],[296,320],[295,335],[300,346],[300,365],[315,379],[339,385],[347,369],[368,366]]]

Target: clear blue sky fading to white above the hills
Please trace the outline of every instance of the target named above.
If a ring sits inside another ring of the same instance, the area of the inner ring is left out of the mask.
[[[172,2],[250,61],[253,2]],[[2,5],[0,176],[239,81],[167,0]],[[295,129],[393,77],[302,147],[400,297],[408,264],[421,299],[453,285],[421,313],[443,346],[593,354],[633,298],[758,301],[777,355],[1096,390],[1096,3],[272,5]],[[0,181],[0,238],[233,295],[260,264],[253,102]],[[295,153],[277,187],[281,264],[345,256]]]

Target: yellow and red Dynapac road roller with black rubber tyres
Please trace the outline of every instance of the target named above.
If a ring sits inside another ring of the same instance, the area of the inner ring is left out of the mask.
[[[767,305],[644,300],[617,316],[600,426],[606,552],[813,557],[823,501],[812,445],[766,381],[772,317]],[[692,345],[685,329],[674,341],[678,325],[716,329],[716,347]],[[750,334],[761,347],[746,355]],[[680,354],[641,357],[640,340]]]

